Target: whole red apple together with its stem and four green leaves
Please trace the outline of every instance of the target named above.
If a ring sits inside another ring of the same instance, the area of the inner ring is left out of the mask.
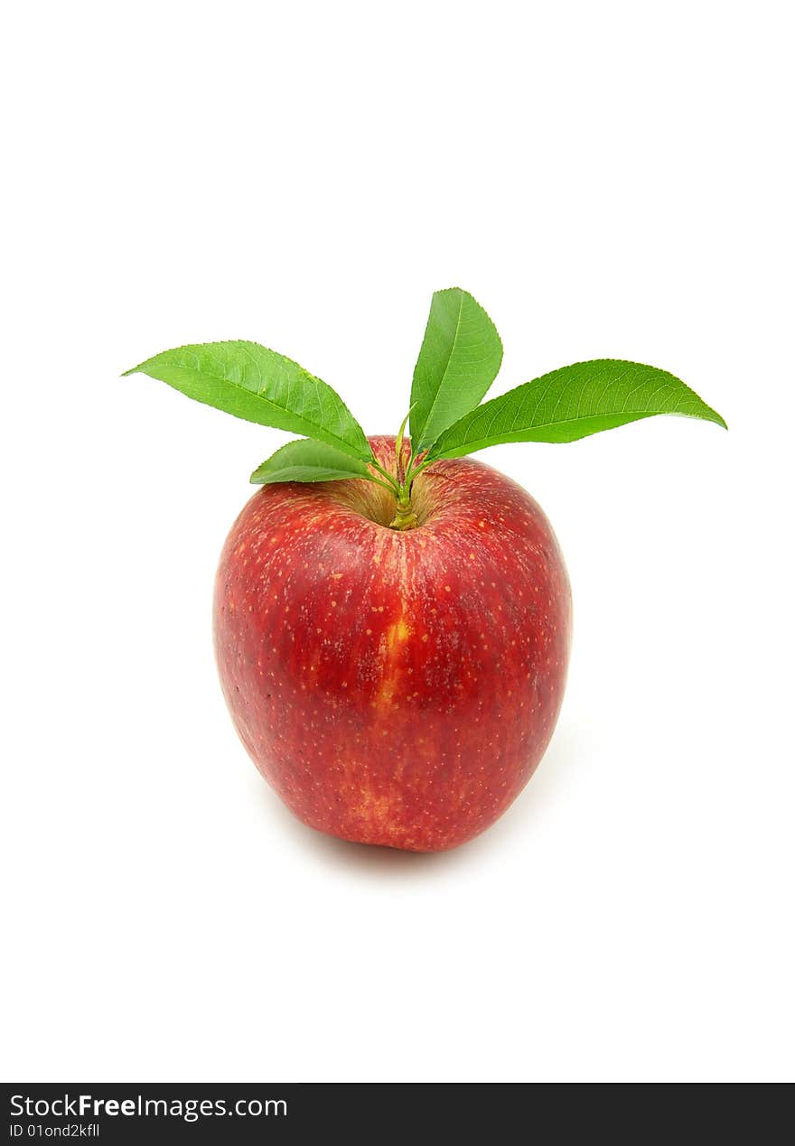
[[[243,744],[318,831],[454,848],[509,807],[553,733],[563,558],[532,497],[470,454],[660,414],[726,427],[680,378],[625,359],[483,401],[501,361],[486,312],[451,286],[431,299],[395,438],[367,438],[333,386],[259,343],[178,346],[126,371],[299,435],[251,473],[263,489],[224,547],[215,644]]]

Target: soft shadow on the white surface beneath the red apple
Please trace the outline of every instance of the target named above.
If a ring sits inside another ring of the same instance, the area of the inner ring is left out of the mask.
[[[260,785],[260,799],[279,807],[279,823],[289,834],[299,837],[301,846],[309,847],[324,866],[329,864],[361,874],[398,879],[427,878],[447,872],[451,868],[480,862],[490,849],[504,848],[521,834],[532,831],[532,824],[544,808],[555,800],[563,785],[584,762],[583,740],[577,730],[564,723],[558,728],[536,772],[508,810],[490,829],[450,851],[402,851],[398,848],[353,843],[334,835],[326,835],[303,824],[287,809],[266,784]]]

